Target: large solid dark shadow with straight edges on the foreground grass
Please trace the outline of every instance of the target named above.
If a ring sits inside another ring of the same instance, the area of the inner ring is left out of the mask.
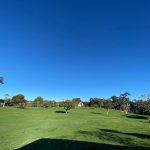
[[[118,146],[66,139],[39,139],[17,150],[148,150],[146,147]]]

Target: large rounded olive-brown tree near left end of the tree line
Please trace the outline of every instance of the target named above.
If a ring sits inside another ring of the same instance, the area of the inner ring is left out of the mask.
[[[25,96],[23,94],[18,94],[12,97],[11,100],[13,105],[18,105],[19,107],[23,108],[26,104]]]

